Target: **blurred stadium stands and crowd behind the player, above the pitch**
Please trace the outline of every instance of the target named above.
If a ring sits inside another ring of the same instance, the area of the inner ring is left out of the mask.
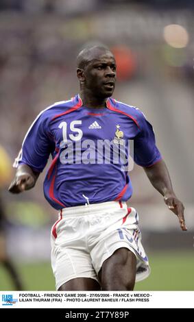
[[[147,4],[1,0],[0,137],[10,158],[14,160],[19,153],[25,132],[40,110],[77,93],[78,51],[89,43],[104,43],[118,64],[114,97],[141,108],[154,125],[158,147],[175,191],[185,203],[187,225],[192,230],[193,9],[193,1],[181,0],[149,0]],[[135,166],[131,177],[134,197],[130,203],[140,212],[145,236],[150,231],[178,232],[178,222],[142,169]],[[44,238],[49,239],[49,226],[56,216],[44,200],[42,185],[43,176],[36,188],[19,197],[8,194],[8,184],[1,187],[12,229],[17,224],[21,230],[17,235],[21,256],[49,256],[49,243],[45,251]],[[192,248],[191,236],[187,236],[182,243]],[[9,238],[10,244],[14,243],[13,234]],[[36,247],[32,247],[32,238]],[[10,253],[15,255],[12,247]]]

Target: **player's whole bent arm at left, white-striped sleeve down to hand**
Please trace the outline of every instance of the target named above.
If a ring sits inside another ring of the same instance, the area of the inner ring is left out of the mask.
[[[21,193],[33,188],[43,171],[53,149],[47,129],[47,115],[40,113],[27,131],[22,149],[14,162],[15,177],[10,184],[10,193]]]

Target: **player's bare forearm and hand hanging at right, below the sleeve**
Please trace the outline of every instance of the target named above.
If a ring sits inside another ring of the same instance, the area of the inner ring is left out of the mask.
[[[152,186],[164,197],[168,208],[178,216],[181,229],[184,231],[187,230],[184,221],[184,206],[173,191],[171,178],[165,161],[160,160],[149,167],[143,166],[143,169]]]

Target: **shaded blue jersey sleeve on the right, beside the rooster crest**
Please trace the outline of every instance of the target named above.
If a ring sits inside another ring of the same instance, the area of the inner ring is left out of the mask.
[[[156,139],[151,124],[144,114],[139,119],[141,131],[134,139],[134,162],[139,166],[151,166],[162,159],[161,153],[156,147]]]

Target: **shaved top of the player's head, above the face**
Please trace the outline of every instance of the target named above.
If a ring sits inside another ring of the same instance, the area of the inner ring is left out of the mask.
[[[86,47],[77,55],[77,69],[84,69],[89,62],[98,59],[101,55],[104,55],[106,53],[114,57],[113,53],[111,53],[108,47],[99,45]]]

